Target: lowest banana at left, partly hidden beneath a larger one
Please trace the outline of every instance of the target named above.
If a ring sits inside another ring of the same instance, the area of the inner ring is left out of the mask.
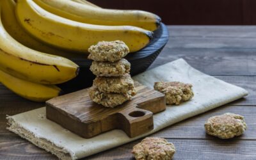
[[[6,74],[2,70],[0,70],[0,82],[20,97],[35,102],[45,102],[61,93],[61,89],[55,85],[32,83]]]

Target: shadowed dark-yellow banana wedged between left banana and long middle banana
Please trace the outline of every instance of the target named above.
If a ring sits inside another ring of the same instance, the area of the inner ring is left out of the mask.
[[[78,54],[60,51],[49,47],[48,45],[36,40],[33,36],[29,35],[16,19],[15,15],[15,1],[13,0],[1,0],[2,8],[2,22],[6,31],[20,44],[25,45],[31,49],[40,52],[47,52],[49,54],[64,56],[65,58],[73,58],[79,56]]]

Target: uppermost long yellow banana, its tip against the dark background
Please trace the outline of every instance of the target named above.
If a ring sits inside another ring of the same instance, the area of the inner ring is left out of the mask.
[[[66,19],[106,26],[136,26],[150,31],[158,28],[157,15],[140,10],[110,10],[95,8],[67,0],[33,0],[48,12]]]

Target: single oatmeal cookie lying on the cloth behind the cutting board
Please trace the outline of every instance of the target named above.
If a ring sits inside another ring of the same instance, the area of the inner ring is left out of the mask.
[[[192,84],[181,82],[156,82],[154,89],[165,94],[166,104],[179,105],[194,96]]]

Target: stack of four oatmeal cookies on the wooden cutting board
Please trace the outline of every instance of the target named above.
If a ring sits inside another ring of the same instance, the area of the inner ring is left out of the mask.
[[[90,70],[97,76],[90,88],[93,102],[114,108],[131,100],[136,94],[134,82],[129,74],[131,64],[124,59],[129,48],[124,42],[99,42],[88,51],[88,59],[93,60]]]

